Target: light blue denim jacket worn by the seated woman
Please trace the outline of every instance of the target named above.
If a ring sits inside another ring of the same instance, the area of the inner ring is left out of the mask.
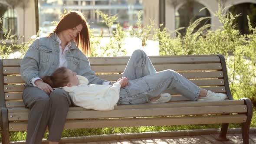
[[[59,43],[56,33],[47,37],[38,37],[30,45],[20,64],[20,74],[25,85],[30,84],[31,79],[52,75],[59,67]],[[68,69],[82,75],[89,80],[89,84],[101,85],[105,80],[95,76],[90,68],[87,57],[78,49],[75,42],[71,41],[71,47],[66,52]]]

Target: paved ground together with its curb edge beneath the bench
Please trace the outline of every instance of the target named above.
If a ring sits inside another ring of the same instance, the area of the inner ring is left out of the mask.
[[[241,128],[228,129],[230,141],[217,141],[215,138],[219,134],[220,129],[102,134],[63,137],[59,144],[243,144]],[[11,144],[25,144],[25,141],[13,141]],[[49,144],[49,141],[43,140],[42,144]],[[256,128],[249,130],[249,144],[256,144]]]

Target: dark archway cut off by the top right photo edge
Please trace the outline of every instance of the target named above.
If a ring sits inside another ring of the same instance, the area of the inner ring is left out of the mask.
[[[240,3],[229,8],[229,11],[233,14],[241,14],[235,20],[236,29],[240,30],[241,34],[249,34],[249,26],[247,15],[250,18],[253,27],[256,26],[256,3]]]

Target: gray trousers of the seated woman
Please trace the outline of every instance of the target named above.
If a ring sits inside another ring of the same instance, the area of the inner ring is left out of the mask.
[[[23,91],[23,102],[30,109],[26,144],[41,144],[47,126],[48,140],[58,142],[72,104],[68,93],[56,89],[47,95],[39,88],[29,86]]]

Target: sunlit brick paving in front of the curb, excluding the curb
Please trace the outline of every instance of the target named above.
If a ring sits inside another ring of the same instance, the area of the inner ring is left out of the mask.
[[[68,144],[243,144],[241,134],[227,134],[230,141],[217,141],[214,137],[217,134],[182,137],[152,137],[140,139],[125,139],[118,141],[98,141],[89,143],[68,143]],[[256,133],[249,134],[249,144],[256,144]]]

